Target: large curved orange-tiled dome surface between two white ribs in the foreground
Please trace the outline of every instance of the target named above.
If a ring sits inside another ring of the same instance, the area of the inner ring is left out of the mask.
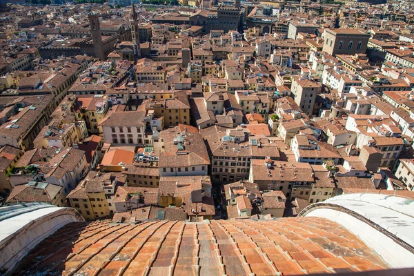
[[[384,268],[388,265],[371,248],[336,222],[295,217],[196,224],[73,222],[41,242],[15,271],[17,275],[169,275],[169,271],[297,275]]]

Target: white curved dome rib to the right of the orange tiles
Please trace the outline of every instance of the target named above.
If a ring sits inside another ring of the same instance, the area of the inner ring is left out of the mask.
[[[299,216],[325,217],[342,224],[395,268],[414,264],[412,199],[370,193],[340,195],[308,206]]]

